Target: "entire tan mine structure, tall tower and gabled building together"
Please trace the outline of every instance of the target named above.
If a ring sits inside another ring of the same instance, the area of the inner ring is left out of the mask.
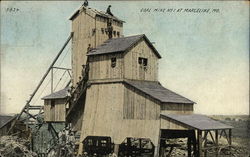
[[[188,123],[195,117],[194,102],[160,84],[158,60],[161,55],[146,35],[123,37],[123,21],[86,7],[77,10],[70,20],[74,32],[73,86],[80,89],[78,86],[87,84],[81,88],[84,91],[75,92],[84,96],[78,99],[77,105],[71,105],[75,109],[69,106],[67,112],[67,122],[73,123],[75,131],[81,133],[80,142],[88,137],[110,137],[115,144],[114,151],[119,154],[119,146],[124,141],[150,139],[154,156],[159,156],[165,139],[187,137],[189,156],[190,143],[200,142],[201,150],[204,128]],[[87,79],[81,79],[86,73]],[[186,118],[190,121],[178,119],[183,115],[188,115]],[[216,129],[231,129],[210,122],[207,124],[217,125]],[[79,154],[84,150],[80,144]],[[196,145],[193,151],[197,151]]]

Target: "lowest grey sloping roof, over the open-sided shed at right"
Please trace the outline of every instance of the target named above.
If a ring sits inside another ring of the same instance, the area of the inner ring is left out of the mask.
[[[219,129],[232,129],[230,125],[223,124],[219,121],[213,120],[207,116],[200,114],[161,114],[161,116],[172,119],[188,127],[198,130],[219,130]]]

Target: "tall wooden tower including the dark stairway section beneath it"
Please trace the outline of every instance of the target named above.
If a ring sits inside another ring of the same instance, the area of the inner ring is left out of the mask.
[[[84,82],[87,53],[109,38],[123,36],[123,21],[102,11],[81,6],[71,17],[72,21],[72,84],[79,87]],[[81,89],[82,90],[82,89]],[[75,90],[76,91],[76,90]],[[79,95],[76,91],[74,95]],[[76,107],[71,105],[67,117],[74,131],[80,131],[86,93],[81,94]],[[72,98],[77,99],[77,98]],[[74,101],[74,100],[73,100]],[[79,102],[80,101],[80,102]],[[73,109],[72,109],[73,108]]]

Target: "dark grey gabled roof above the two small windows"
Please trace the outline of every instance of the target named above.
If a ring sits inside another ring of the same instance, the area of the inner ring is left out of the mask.
[[[87,55],[99,55],[99,54],[108,54],[108,53],[121,53],[129,50],[134,45],[139,43],[140,40],[144,39],[146,43],[152,48],[153,52],[158,58],[161,58],[159,52],[155,49],[149,39],[146,37],[145,34],[135,35],[135,36],[128,36],[128,37],[121,37],[121,38],[111,38],[106,40],[103,44],[98,46],[97,48],[90,51]]]

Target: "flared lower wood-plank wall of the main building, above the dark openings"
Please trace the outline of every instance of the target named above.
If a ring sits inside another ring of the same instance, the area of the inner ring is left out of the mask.
[[[158,145],[160,120],[156,114],[159,116],[160,106],[150,99],[128,92],[133,91],[126,89],[122,83],[91,85],[87,91],[81,141],[90,135],[110,136],[116,144],[120,144],[126,137],[141,137],[150,138]],[[125,97],[126,94],[131,98]],[[124,107],[125,103],[128,107]],[[133,105],[136,119],[127,119],[126,116],[130,114],[127,111],[132,110]],[[143,113],[140,113],[141,110]],[[79,152],[81,150],[82,145]]]

